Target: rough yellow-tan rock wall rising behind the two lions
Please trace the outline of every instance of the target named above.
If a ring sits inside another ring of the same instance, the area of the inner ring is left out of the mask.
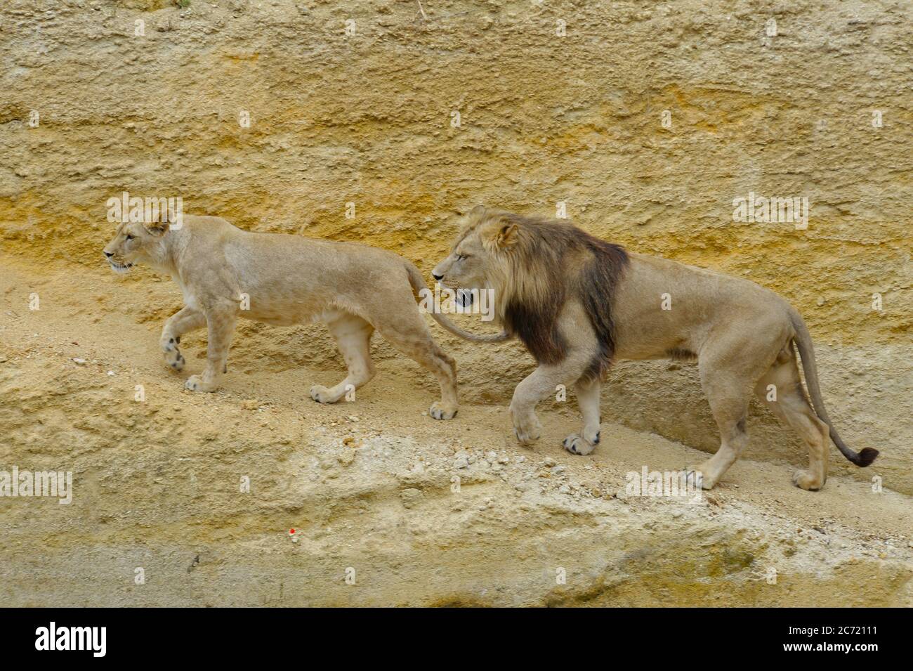
[[[908,3],[422,8],[6,2],[5,253],[39,274],[100,267],[105,202],[127,190],[251,229],[385,246],[427,274],[472,204],[553,214],[563,202],[594,234],[791,299],[847,442],[881,448],[883,475],[913,491]],[[808,228],[733,222],[732,200],[750,193],[808,198]],[[177,305],[153,299],[150,329]],[[289,367],[338,365],[310,331],[244,332]],[[503,404],[530,370],[516,345],[440,338],[468,399]],[[716,446],[687,366],[623,364],[607,386],[609,419]],[[759,458],[803,461],[772,417],[752,429]]]

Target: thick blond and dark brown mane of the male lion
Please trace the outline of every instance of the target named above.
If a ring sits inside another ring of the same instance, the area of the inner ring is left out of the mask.
[[[612,309],[615,288],[628,265],[624,248],[571,224],[519,215],[502,217],[519,225],[519,248],[511,254],[514,277],[529,277],[545,289],[531,299],[530,291],[518,287],[505,306],[505,328],[523,341],[537,362],[561,362],[567,342],[558,331],[558,317],[568,299],[578,299],[599,342],[599,351],[583,376],[602,377],[614,356]]]

